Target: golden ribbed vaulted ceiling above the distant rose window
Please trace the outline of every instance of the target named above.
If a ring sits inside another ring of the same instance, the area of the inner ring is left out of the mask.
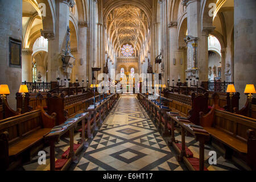
[[[108,38],[115,52],[127,43],[141,52],[149,32],[148,26],[146,14],[134,5],[118,6],[109,13],[106,20]]]

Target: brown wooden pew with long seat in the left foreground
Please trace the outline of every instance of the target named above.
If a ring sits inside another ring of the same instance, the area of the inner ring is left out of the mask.
[[[7,118],[0,123],[0,168],[11,170],[30,159],[44,135],[55,126],[56,114],[38,110]]]

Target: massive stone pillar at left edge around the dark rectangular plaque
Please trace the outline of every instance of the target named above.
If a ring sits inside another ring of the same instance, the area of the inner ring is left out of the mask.
[[[22,68],[9,64],[9,37],[22,42],[22,0],[0,0],[0,84],[9,85],[7,100],[16,109],[15,94],[22,82]]]

